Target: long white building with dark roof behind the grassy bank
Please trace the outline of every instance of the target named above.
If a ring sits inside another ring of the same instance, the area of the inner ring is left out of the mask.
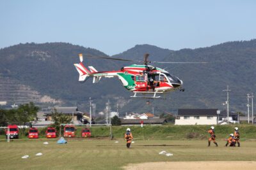
[[[217,109],[180,109],[175,125],[216,125]]]

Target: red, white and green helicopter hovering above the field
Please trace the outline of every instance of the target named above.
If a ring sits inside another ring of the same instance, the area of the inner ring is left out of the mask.
[[[117,59],[112,57],[100,57],[93,55],[86,55],[88,57],[97,57],[102,59],[111,60],[124,60],[124,61],[134,61],[127,59]],[[130,66],[122,67],[118,71],[97,71],[93,66],[88,66],[86,68],[83,64],[83,54],[79,53],[79,64],[74,64],[78,73],[79,81],[84,82],[89,77],[93,77],[93,83],[98,83],[102,77],[113,78],[118,77],[123,87],[134,93],[131,97],[143,97],[143,98],[159,98],[161,94],[166,94],[167,92],[172,92],[175,90],[180,90],[184,92],[182,88],[183,81],[177,76],[168,73],[168,71],[161,69],[159,67],[154,67],[148,65],[152,61],[148,60],[148,53],[145,53],[143,64],[132,64]],[[153,63],[207,63],[207,62],[156,62]],[[138,96],[138,95],[143,96]]]

